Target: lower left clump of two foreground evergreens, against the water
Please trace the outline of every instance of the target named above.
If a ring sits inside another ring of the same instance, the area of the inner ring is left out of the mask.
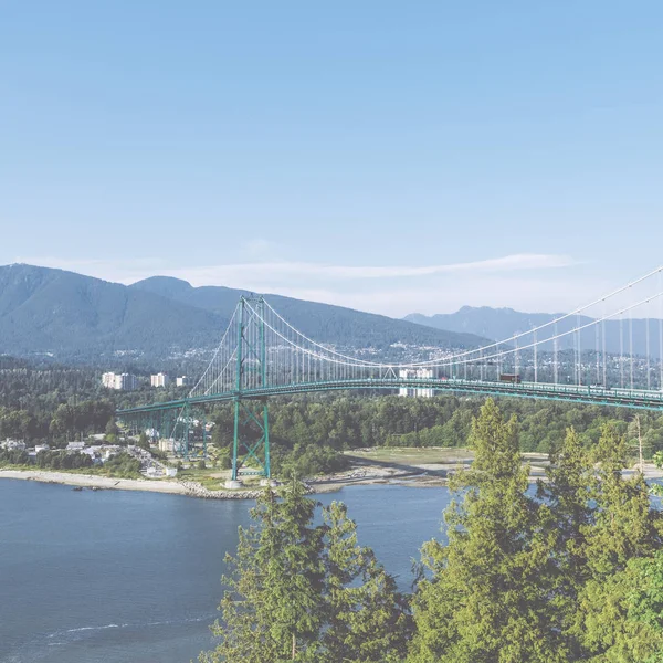
[[[227,556],[221,642],[204,663],[373,663],[401,660],[411,621],[396,581],[357,544],[344,504],[324,509],[293,482],[265,492]]]

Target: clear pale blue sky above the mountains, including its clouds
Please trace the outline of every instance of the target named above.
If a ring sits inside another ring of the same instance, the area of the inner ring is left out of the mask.
[[[400,316],[663,263],[663,4],[6,0],[0,263]]]

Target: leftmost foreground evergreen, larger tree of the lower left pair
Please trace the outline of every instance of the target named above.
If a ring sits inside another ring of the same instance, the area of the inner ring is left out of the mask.
[[[280,497],[280,498],[277,498]],[[324,526],[313,526],[316,503],[293,482],[277,496],[266,491],[251,511],[257,525],[240,528],[236,556],[221,601],[222,638],[201,662],[281,663],[308,661],[323,624]]]

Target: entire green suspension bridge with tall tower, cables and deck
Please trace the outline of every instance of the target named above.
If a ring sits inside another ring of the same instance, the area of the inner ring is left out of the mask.
[[[333,390],[456,393],[663,409],[663,266],[571,313],[478,348],[386,364],[316,343],[263,296],[241,297],[209,366],[186,398],[118,410],[135,431],[189,457],[206,406],[234,408],[232,478],[270,477],[269,399]]]

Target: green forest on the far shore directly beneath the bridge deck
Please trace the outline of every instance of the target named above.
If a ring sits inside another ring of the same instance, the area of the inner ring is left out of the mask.
[[[335,453],[367,446],[464,446],[472,421],[483,403],[480,398],[440,396],[411,399],[362,396],[301,397],[270,401],[270,439],[277,475],[311,476],[343,470],[345,459]],[[518,444],[523,452],[550,453],[565,431],[573,428],[583,446],[597,444],[610,424],[634,448],[638,429],[633,413],[554,401],[502,399],[505,417],[518,418]],[[228,406],[211,415],[212,440],[220,449],[232,443],[233,419]],[[645,457],[663,450],[663,415],[640,414]],[[251,434],[248,429],[244,436]]]

